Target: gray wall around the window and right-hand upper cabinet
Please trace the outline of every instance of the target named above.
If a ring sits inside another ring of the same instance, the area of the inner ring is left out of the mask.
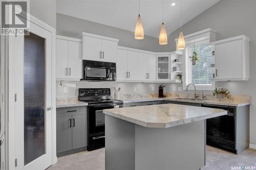
[[[184,35],[207,28],[217,31],[217,40],[242,34],[251,38],[250,80],[217,82],[216,86],[227,87],[231,94],[252,96],[252,104],[250,106],[250,143],[256,144],[256,1],[221,0],[183,26]],[[166,46],[165,52],[175,51],[175,38],[178,37],[179,32],[180,30],[178,29],[168,36],[169,44]],[[169,90],[172,91],[172,88],[169,88]]]

